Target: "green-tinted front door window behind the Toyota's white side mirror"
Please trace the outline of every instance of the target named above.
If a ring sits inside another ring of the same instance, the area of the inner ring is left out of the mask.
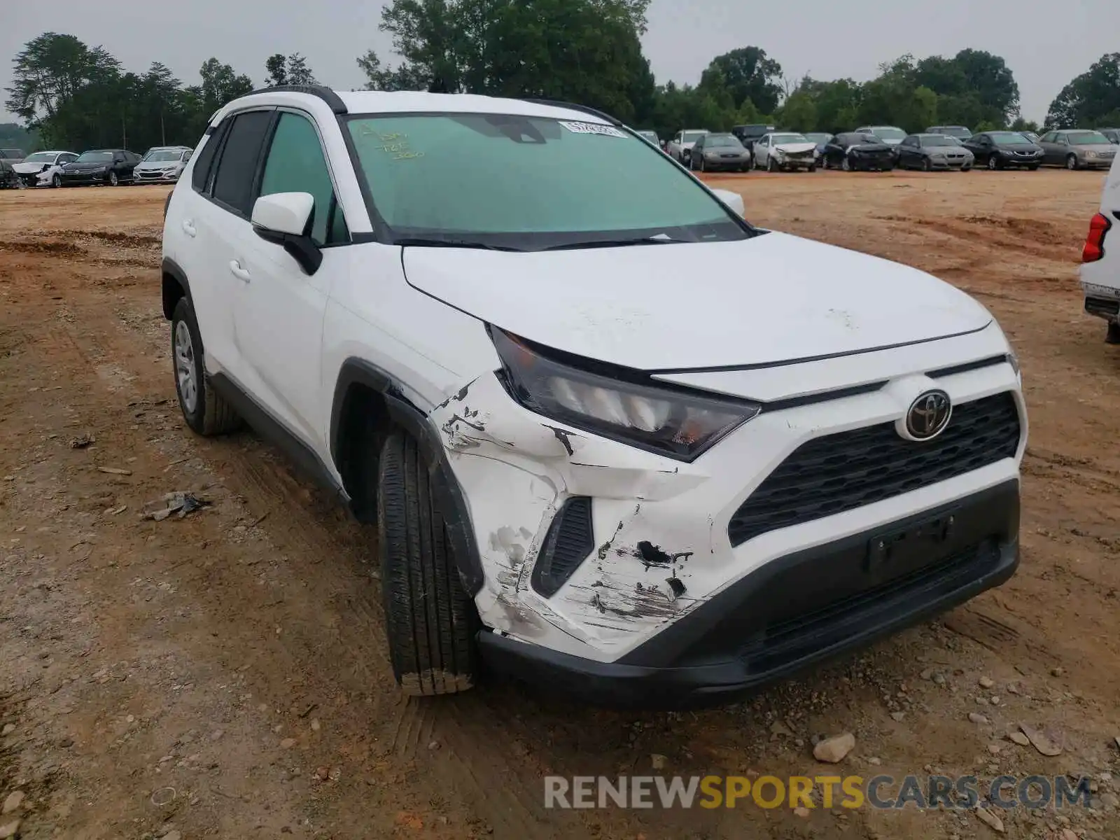
[[[349,240],[319,134],[310,120],[287,111],[277,122],[261,177],[261,195],[273,193],[310,193],[315,197],[311,239],[317,245]]]

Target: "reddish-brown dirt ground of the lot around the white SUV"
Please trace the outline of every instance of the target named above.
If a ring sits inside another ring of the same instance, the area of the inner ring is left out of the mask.
[[[25,794],[0,827],[21,818],[26,840],[998,836],[969,811],[543,806],[547,774],[663,760],[683,775],[1090,775],[1092,811],[1016,809],[1004,836],[1120,837],[1120,347],[1076,287],[1102,178],[710,179],[756,223],[917,265],[990,307],[1023,361],[1030,441],[1007,585],[684,713],[508,684],[402,698],[370,534],[251,432],[202,440],[179,416],[159,311],[166,189],[0,193],[0,800]],[[141,519],[175,491],[213,505]],[[1009,739],[1019,724],[1052,729],[1061,755]],[[855,750],[818,764],[814,737],[844,730]]]

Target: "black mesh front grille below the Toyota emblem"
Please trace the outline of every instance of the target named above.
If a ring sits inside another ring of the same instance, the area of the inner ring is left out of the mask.
[[[731,516],[739,545],[768,531],[881,502],[1015,456],[1019,412],[1004,392],[953,407],[930,441],[904,440],[893,422],[825,435],[803,444]]]

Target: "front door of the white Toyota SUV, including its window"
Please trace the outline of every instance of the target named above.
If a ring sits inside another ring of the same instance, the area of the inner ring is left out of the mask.
[[[315,198],[310,237],[323,251],[323,264],[309,276],[282,246],[239,226],[234,335],[251,393],[321,455],[323,320],[332,278],[344,259],[335,246],[348,244],[349,233],[314,119],[281,109],[273,132],[255,195],[309,193]]]

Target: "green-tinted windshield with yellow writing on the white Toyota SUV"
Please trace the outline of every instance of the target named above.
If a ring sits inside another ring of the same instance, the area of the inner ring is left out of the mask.
[[[398,240],[540,250],[750,235],[693,177],[612,125],[468,113],[346,124],[373,213]]]

